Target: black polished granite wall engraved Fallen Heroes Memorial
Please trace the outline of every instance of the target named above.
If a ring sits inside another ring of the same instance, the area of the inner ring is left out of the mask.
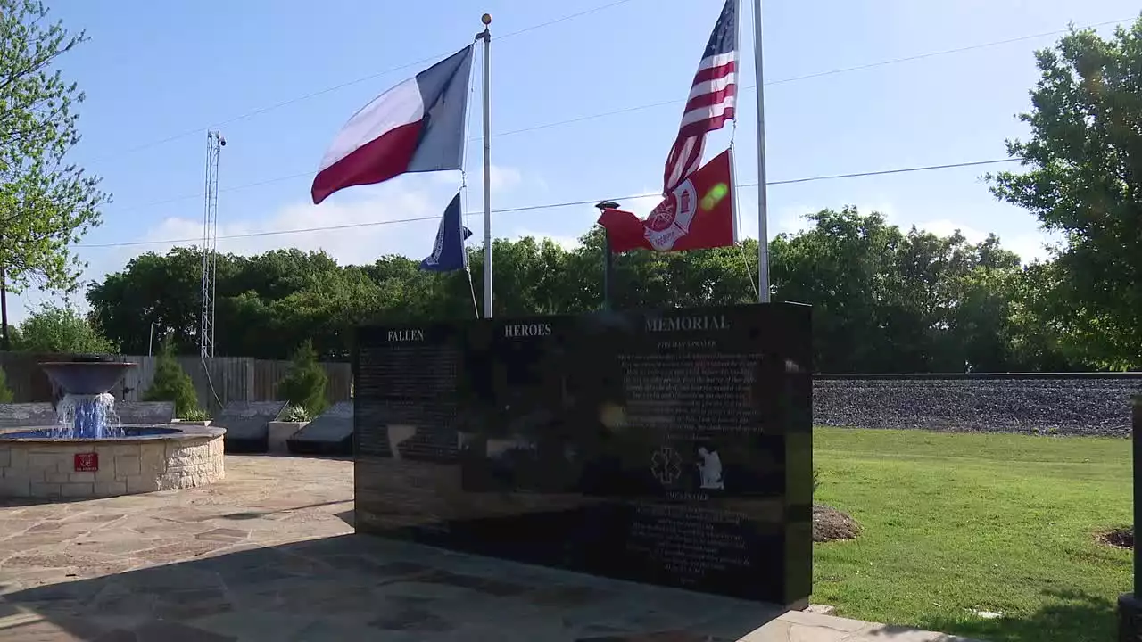
[[[359,532],[788,607],[812,589],[796,304],[359,328]]]

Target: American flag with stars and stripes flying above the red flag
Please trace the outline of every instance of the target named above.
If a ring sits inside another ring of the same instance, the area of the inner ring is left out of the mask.
[[[690,97],[682,111],[678,137],[666,158],[664,193],[693,174],[702,163],[706,134],[733,119],[738,89],[738,0],[725,0],[722,15],[698,64]]]

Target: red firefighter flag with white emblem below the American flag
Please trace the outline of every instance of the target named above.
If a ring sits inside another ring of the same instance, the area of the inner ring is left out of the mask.
[[[686,177],[658,203],[645,220],[629,211],[604,209],[598,217],[610,236],[611,251],[636,248],[657,251],[697,250],[732,246],[733,171],[726,150]]]

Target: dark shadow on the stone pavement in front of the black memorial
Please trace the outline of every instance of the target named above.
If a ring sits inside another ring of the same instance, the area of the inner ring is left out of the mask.
[[[738,640],[781,615],[359,535],[220,553],[7,594],[0,640],[617,642],[673,632],[661,640],[700,642]]]

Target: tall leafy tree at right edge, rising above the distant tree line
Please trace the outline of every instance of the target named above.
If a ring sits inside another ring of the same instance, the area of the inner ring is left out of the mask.
[[[1030,138],[1007,143],[1029,169],[992,191],[1064,235],[1053,296],[1092,342],[1085,360],[1142,367],[1142,18],[1109,40],[1072,29],[1036,62]]]

